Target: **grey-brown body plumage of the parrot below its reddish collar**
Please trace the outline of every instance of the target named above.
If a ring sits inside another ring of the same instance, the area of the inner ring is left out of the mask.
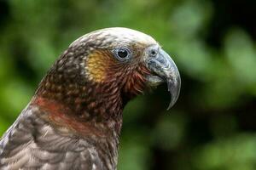
[[[0,169],[116,169],[118,140],[54,127],[29,105],[0,140]]]

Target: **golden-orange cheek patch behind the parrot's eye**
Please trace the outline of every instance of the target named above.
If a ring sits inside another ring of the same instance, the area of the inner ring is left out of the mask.
[[[110,54],[105,51],[96,51],[95,53],[90,54],[86,59],[85,67],[90,80],[93,80],[94,82],[103,82],[107,77],[106,73],[111,60]]]

